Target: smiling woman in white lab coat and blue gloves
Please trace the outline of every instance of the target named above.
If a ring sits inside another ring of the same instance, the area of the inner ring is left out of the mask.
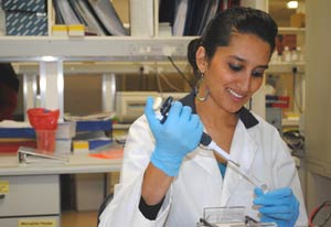
[[[218,13],[189,45],[200,78],[161,123],[147,100],[130,128],[120,184],[100,216],[105,226],[195,226],[205,207],[244,206],[245,215],[278,226],[306,226],[295,163],[277,130],[244,105],[261,86],[277,25],[265,12]],[[268,185],[246,181],[217,153],[199,147],[202,132]]]

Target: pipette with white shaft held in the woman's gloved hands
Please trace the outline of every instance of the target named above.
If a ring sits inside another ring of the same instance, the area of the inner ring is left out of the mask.
[[[168,112],[171,108],[172,100],[173,100],[173,98],[171,96],[169,96],[163,101],[163,104],[160,108],[160,114],[161,114],[160,121],[161,121],[161,123],[163,123],[167,119]],[[227,152],[225,152],[222,148],[220,148],[212,140],[211,136],[203,132],[202,137],[201,137],[201,140],[200,140],[200,145],[204,149],[217,152],[223,159],[225,159],[227,161],[227,163],[232,164],[232,167],[235,169],[235,171],[237,171],[239,174],[242,174],[252,184],[254,184],[257,187],[260,187],[264,191],[264,193],[268,192],[268,186],[265,183],[263,183],[256,176],[254,176],[247,169],[245,169],[244,166],[241,166],[237,162],[235,162]]]

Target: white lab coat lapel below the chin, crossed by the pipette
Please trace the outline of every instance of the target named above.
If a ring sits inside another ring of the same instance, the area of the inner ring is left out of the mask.
[[[254,140],[254,138],[252,138],[244,123],[239,120],[236,126],[231,145],[229,154],[232,159],[245,169],[249,170],[256,151],[257,142]],[[243,181],[243,176],[232,167],[232,164],[227,164],[221,206],[227,206],[231,196],[236,191],[236,187],[241,181]]]

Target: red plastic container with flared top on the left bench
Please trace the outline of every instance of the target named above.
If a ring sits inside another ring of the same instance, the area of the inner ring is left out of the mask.
[[[58,115],[58,109],[32,108],[28,110],[29,121],[35,130],[39,151],[54,152]]]

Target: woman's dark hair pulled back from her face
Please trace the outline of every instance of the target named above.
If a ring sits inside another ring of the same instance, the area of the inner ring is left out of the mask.
[[[195,60],[197,47],[203,46],[207,60],[212,60],[218,46],[228,46],[233,31],[257,35],[270,45],[270,55],[275,50],[278,29],[268,13],[244,7],[221,11],[210,21],[202,36],[189,43],[188,60],[193,67],[195,77],[200,77]]]

